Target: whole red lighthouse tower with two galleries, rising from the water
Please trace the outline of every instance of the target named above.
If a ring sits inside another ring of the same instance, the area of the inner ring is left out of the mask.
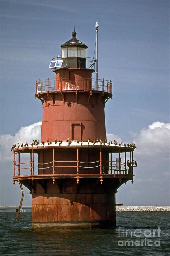
[[[56,77],[36,81],[41,143],[14,149],[13,180],[32,194],[33,228],[115,227],[115,193],[133,180],[134,145],[106,140],[104,108],[112,82],[92,79],[96,60],[86,57],[75,31],[61,49],[61,59],[50,65]],[[30,162],[22,162],[23,153]]]

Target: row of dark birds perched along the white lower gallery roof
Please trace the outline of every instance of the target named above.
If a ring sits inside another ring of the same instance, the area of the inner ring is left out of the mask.
[[[51,139],[51,141],[49,141],[49,139],[48,139],[48,140],[47,140],[48,146],[50,146],[50,145],[52,144],[52,142],[53,142],[52,139]],[[59,141],[58,141],[58,137],[57,137],[56,140],[55,140],[55,144],[57,144],[57,142],[58,142],[58,145],[59,145],[59,146],[62,144],[62,140],[59,140]],[[64,142],[67,142],[67,143],[68,143],[68,146],[70,146],[71,143],[73,142],[73,140],[69,140],[69,138],[68,138],[68,139],[67,139],[66,141],[64,141]],[[75,141],[74,141],[74,142],[75,142]],[[76,143],[79,143],[79,142],[80,142],[80,140],[77,140],[77,141],[76,141]],[[80,143],[81,146],[83,145],[83,142],[84,142],[84,140],[81,141],[81,143]],[[106,144],[107,144],[107,146],[109,146],[110,144],[111,144],[111,145],[114,144],[115,146],[119,146],[119,147],[122,146],[122,142],[120,142],[119,145],[118,145],[116,140],[114,140],[114,142],[113,142],[112,140],[111,140],[111,142],[110,142],[110,140],[108,140],[108,142],[107,142],[107,139],[105,139],[105,140],[101,140],[101,139],[100,139],[100,140],[99,140],[98,138],[97,138],[97,140],[93,140],[93,141],[91,141],[90,138],[89,138],[87,145],[88,145],[88,146],[89,146],[90,144],[95,145],[96,143],[100,143],[100,145],[106,145]],[[17,144],[18,144],[18,146],[17,146]],[[31,143],[30,145],[31,145],[31,147],[33,147],[33,146],[38,146],[39,144],[45,146],[45,141],[43,140],[42,143],[39,143],[39,140],[33,140],[33,143]],[[124,147],[133,148],[133,150],[136,149],[136,145],[135,145],[133,142],[131,142],[131,144],[127,143],[127,146],[126,146],[126,144],[123,142],[123,146],[124,146]],[[11,151],[12,151],[13,149],[15,149],[15,148],[22,148],[22,147],[29,147],[28,142],[26,142],[25,144],[22,143],[21,145],[19,145],[19,142],[16,143],[15,145],[12,146]]]

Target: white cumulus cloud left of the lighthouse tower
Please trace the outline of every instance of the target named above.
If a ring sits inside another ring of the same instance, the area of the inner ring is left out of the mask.
[[[11,153],[11,147],[13,144],[18,143],[21,145],[22,142],[28,141],[32,142],[32,139],[41,138],[41,128],[42,122],[33,123],[32,125],[21,127],[18,133],[14,136],[11,134],[0,135],[0,147],[1,154],[0,160],[12,160],[13,154]]]

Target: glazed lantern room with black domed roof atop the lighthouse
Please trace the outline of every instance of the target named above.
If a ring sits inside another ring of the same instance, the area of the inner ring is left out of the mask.
[[[61,45],[63,67],[86,68],[86,49],[85,44],[77,40],[77,33],[72,32],[72,38]]]

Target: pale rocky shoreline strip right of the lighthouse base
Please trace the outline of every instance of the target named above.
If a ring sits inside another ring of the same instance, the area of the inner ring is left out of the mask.
[[[170,206],[116,206],[117,212],[169,212]]]

